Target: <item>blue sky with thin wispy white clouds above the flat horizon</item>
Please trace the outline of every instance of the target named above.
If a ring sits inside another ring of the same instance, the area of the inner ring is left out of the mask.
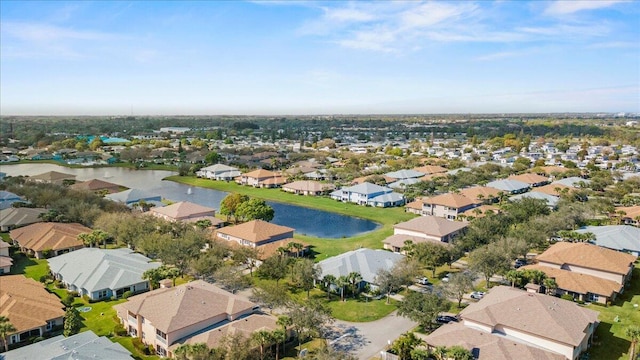
[[[1,1],[2,115],[640,112],[637,1]]]

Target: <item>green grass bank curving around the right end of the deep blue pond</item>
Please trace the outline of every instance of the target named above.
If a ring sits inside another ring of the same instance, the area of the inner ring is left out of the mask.
[[[296,239],[312,246],[316,261],[324,260],[349,250],[360,247],[379,249],[382,248],[382,240],[393,234],[393,225],[407,221],[415,215],[404,212],[404,208],[374,208],[360,206],[351,203],[339,202],[327,197],[301,196],[284,192],[280,189],[259,189],[251,186],[242,186],[234,182],[214,181],[186,176],[169,176],[165,180],[175,181],[187,185],[208,189],[226,191],[229,193],[241,193],[254,198],[277,201],[292,205],[304,206],[317,210],[354,216],[362,219],[373,220],[381,224],[377,230],[342,239],[326,239],[295,234]],[[331,224],[326,224],[331,226]]]

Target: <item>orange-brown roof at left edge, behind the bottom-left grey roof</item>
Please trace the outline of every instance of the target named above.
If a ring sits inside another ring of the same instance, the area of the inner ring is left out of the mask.
[[[0,315],[8,317],[19,333],[63,317],[64,305],[39,282],[24,275],[4,275],[0,276]]]

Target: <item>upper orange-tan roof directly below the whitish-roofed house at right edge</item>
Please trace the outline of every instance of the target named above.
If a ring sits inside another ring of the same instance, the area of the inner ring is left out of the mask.
[[[536,256],[538,261],[571,264],[614,274],[627,274],[636,257],[587,243],[558,242]]]

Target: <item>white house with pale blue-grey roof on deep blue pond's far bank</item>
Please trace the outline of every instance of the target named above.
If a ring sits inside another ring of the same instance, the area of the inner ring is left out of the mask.
[[[404,204],[404,197],[394,193],[393,189],[368,182],[336,190],[330,196],[335,200],[358,205],[385,207],[385,205],[399,206]]]

